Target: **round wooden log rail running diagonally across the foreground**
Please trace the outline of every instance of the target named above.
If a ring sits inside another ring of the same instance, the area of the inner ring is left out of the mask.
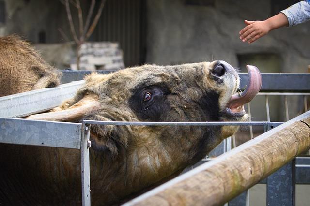
[[[302,152],[309,150],[309,125],[310,111],[124,205],[225,204]]]

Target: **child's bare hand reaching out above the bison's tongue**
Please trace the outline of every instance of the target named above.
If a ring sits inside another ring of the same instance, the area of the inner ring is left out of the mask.
[[[242,42],[248,42],[249,44],[253,43],[257,39],[266,35],[271,30],[270,25],[267,21],[245,20],[244,22],[248,26],[246,26],[239,32]]]

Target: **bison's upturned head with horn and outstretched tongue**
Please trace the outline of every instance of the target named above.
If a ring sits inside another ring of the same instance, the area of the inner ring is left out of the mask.
[[[75,98],[54,112],[30,118],[78,122],[85,119],[245,121],[248,115],[242,104],[250,101],[260,88],[259,78],[253,79],[240,98],[235,94],[239,88],[237,72],[224,61],[144,65],[107,75],[91,74]],[[98,172],[98,178],[120,181],[115,183],[117,186],[106,182],[107,186],[98,186],[98,190],[112,191],[109,198],[116,199],[173,177],[201,160],[237,129],[236,126],[91,125],[93,161],[104,157],[106,164],[100,167],[106,171]]]

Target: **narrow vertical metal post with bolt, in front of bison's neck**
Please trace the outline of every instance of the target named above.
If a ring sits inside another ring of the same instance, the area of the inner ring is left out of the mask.
[[[91,182],[89,164],[90,125],[83,124],[81,139],[81,176],[82,176],[82,205],[91,205]]]

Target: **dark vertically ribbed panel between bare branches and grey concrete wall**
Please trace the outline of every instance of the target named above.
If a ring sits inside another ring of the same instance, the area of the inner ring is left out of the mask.
[[[118,42],[124,52],[126,67],[145,63],[145,0],[106,1],[92,41]]]

